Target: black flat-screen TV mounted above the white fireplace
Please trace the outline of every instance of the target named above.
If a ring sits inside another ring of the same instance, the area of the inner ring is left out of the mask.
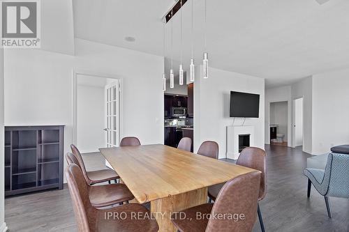
[[[260,95],[230,92],[230,117],[259,118]]]

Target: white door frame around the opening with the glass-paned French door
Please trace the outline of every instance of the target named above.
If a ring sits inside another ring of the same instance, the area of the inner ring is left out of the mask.
[[[73,144],[77,146],[77,75],[117,79],[119,81],[119,138],[124,137],[124,77],[87,70],[73,70]],[[119,141],[120,142],[120,141]]]

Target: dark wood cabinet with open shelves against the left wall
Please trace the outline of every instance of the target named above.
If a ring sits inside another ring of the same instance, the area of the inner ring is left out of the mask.
[[[64,125],[5,127],[5,195],[63,189]]]

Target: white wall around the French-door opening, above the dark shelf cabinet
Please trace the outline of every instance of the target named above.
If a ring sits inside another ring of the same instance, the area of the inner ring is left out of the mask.
[[[73,70],[124,79],[124,132],[163,143],[163,57],[75,40],[75,56],[39,49],[5,51],[5,124],[64,124],[73,141]]]

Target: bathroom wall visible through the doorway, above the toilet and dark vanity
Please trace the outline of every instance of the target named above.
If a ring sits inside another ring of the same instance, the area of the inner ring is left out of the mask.
[[[283,141],[288,141],[288,102],[270,104],[270,123],[277,124],[277,133],[284,134]]]

